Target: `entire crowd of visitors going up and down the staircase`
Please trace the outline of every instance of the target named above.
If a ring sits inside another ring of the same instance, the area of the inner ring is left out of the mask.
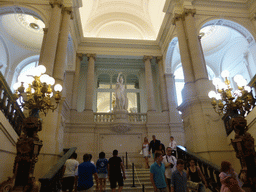
[[[177,143],[170,137],[169,146],[165,146],[152,136],[149,143],[145,137],[142,144],[142,154],[145,158],[146,168],[150,168],[150,181],[155,192],[205,192],[208,184],[196,159],[190,159],[187,170],[184,170],[184,161],[177,159]],[[149,166],[149,159],[154,158],[154,163]],[[96,190],[103,192],[106,190],[106,180],[110,182],[112,192],[116,191],[118,183],[118,192],[122,191],[124,180],[126,179],[125,169],[122,159],[118,157],[118,151],[113,151],[113,157],[109,160],[105,158],[105,153],[99,153],[99,159],[96,164],[92,161],[91,154],[84,154],[83,163],[79,164],[77,154],[72,154],[63,169],[63,192],[71,192],[73,188],[79,192],[94,191],[93,177],[96,181]],[[223,161],[221,163],[221,181],[220,192],[244,192],[242,182],[237,173],[234,172],[231,163]]]

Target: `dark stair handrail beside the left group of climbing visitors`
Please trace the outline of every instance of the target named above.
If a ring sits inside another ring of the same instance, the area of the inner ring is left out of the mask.
[[[41,182],[40,192],[55,192],[61,188],[60,179],[62,177],[62,168],[67,159],[76,151],[76,147],[70,148],[59,161],[52,166],[48,173],[39,179]]]

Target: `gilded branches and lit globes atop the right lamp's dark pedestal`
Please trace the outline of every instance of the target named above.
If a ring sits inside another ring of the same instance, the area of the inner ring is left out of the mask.
[[[224,82],[219,78],[213,79],[216,91],[210,91],[208,96],[212,99],[212,106],[216,113],[237,114],[245,117],[255,106],[255,100],[251,93],[251,87],[247,86],[247,81],[241,75],[236,75],[234,81],[238,89],[234,90],[230,86],[229,72],[223,71],[221,76]]]

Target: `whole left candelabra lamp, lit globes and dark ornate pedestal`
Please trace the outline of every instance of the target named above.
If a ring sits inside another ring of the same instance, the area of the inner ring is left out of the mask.
[[[35,181],[34,168],[43,146],[37,134],[42,130],[40,114],[46,115],[49,110],[57,109],[62,91],[60,84],[54,86],[55,92],[52,90],[55,80],[44,74],[45,71],[46,68],[39,65],[25,75],[19,76],[18,83],[13,86],[17,103],[24,111],[28,111],[29,115],[21,125],[21,135],[16,144],[13,177],[0,184],[0,192],[39,191],[40,185]]]

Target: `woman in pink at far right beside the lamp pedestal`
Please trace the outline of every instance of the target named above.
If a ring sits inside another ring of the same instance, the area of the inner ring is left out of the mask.
[[[242,189],[243,183],[238,178],[237,173],[229,161],[221,162],[221,173],[219,177],[221,182],[220,192],[244,192]]]

